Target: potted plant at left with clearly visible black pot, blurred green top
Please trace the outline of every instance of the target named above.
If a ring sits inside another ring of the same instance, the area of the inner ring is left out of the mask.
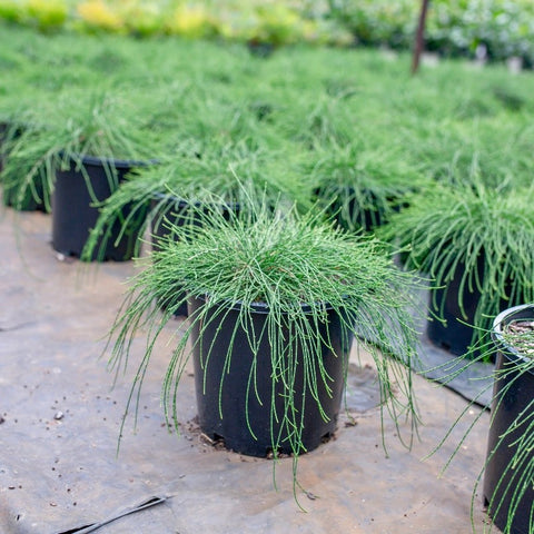
[[[68,112],[70,119],[62,129],[68,141],[63,140],[56,155],[52,246],[81,257],[99,215],[98,202],[109,197],[128,174],[155,164],[162,147],[156,142],[157,135],[144,128],[146,118],[139,116],[131,92],[128,100],[119,91],[92,93]],[[119,216],[128,220],[128,228],[110,228],[111,241],[117,243],[86,259],[130,259],[144,222],[144,214],[136,215],[134,218],[126,206]]]

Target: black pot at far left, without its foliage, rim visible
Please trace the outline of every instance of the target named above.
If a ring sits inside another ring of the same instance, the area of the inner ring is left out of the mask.
[[[99,216],[95,202],[108,198],[128,172],[145,165],[147,164],[142,161],[85,156],[81,158],[83,169],[71,160],[67,170],[57,170],[52,191],[53,249],[66,256],[80,257],[89,231],[95,227]],[[122,218],[128,216],[130,209],[130,206],[122,209]],[[147,209],[139,210],[116,246],[122,226],[120,220],[117,220],[109,233],[103,254],[99,240],[91,259],[115,261],[131,259],[147,210],[148,206]]]

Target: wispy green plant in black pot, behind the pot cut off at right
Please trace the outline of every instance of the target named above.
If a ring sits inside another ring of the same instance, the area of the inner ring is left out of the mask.
[[[378,234],[433,280],[427,334],[452,354],[466,353],[501,310],[534,299],[530,189],[435,182]]]

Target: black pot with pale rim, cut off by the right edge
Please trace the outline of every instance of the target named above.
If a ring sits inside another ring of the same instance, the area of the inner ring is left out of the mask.
[[[534,532],[534,451],[531,436],[534,417],[534,372],[532,367],[517,368],[518,364],[524,363],[526,358],[503,340],[502,332],[503,327],[512,320],[533,317],[533,304],[508,308],[495,318],[492,332],[492,338],[497,348],[496,379],[493,389],[493,419],[488,433],[483,494],[484,502],[488,506],[488,515],[503,532],[508,514],[511,515],[510,531],[505,531],[510,534]],[[503,372],[505,372],[504,375]],[[501,436],[513,426],[520,414],[524,423],[501,441]],[[525,433],[530,437],[530,443],[523,446],[524,451],[521,451],[518,439]],[[514,467],[513,458],[518,451],[524,456],[521,465]],[[515,502],[514,491],[523,483],[527,485],[526,491],[522,498]],[[516,506],[515,510],[514,506]],[[533,515],[532,520],[531,515]]]

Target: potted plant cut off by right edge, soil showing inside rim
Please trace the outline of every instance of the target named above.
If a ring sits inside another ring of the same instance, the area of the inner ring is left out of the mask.
[[[454,374],[468,372],[482,359],[495,362],[493,383],[486,386],[493,390],[487,406],[491,408],[487,453],[474,483],[472,513],[476,497],[479,498],[482,493],[492,524],[503,534],[530,534],[534,532],[534,304],[501,312],[493,319],[492,327],[479,333],[477,344],[464,358],[465,365],[455,365]],[[485,392],[486,388],[482,388],[467,403],[431,454],[443,446],[463,416],[472,414],[473,405]],[[474,421],[469,418],[467,431],[453,449],[445,468],[484,415],[485,411],[479,409]]]

